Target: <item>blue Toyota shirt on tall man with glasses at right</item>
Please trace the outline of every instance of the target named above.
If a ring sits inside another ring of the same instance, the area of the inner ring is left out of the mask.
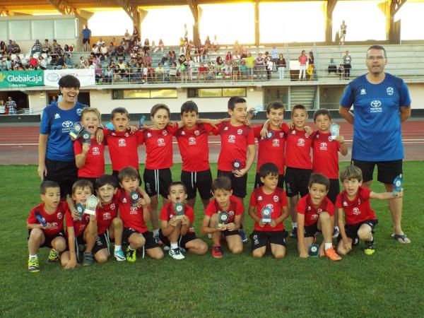
[[[404,158],[399,107],[411,105],[406,83],[385,73],[384,81],[372,84],[365,75],[346,86],[342,107],[355,112],[352,158],[364,161],[391,161]]]

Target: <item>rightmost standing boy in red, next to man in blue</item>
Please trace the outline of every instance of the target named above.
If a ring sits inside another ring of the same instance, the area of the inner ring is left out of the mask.
[[[338,152],[342,155],[348,154],[348,148],[343,136],[331,138],[330,125],[331,114],[325,108],[314,112],[314,123],[318,130],[312,139],[312,172],[321,173],[330,179],[330,189],[327,197],[336,203],[336,198],[340,192],[338,184]],[[338,237],[337,214],[334,216],[335,226],[333,237]]]

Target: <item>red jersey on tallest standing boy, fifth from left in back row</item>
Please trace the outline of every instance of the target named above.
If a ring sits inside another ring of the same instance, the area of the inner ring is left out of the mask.
[[[221,150],[218,157],[218,170],[231,171],[232,162],[239,160],[240,168],[246,166],[247,146],[254,145],[254,133],[250,126],[232,126],[230,122],[218,124]]]

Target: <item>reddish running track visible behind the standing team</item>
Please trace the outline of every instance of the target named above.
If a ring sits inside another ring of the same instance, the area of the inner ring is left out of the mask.
[[[313,127],[313,123],[308,123]],[[338,122],[341,125],[341,135],[345,137],[349,148],[347,156],[341,156],[340,160],[351,159],[352,126],[346,122]],[[38,163],[38,126],[0,126],[0,164],[37,164]],[[405,160],[423,160],[424,158],[424,120],[409,120],[402,124],[404,138]],[[378,136],[376,136],[378,138]],[[217,136],[209,137],[209,151],[211,162],[218,161],[220,141]],[[144,146],[139,147],[139,158],[145,161],[146,152]],[[105,152],[106,163],[110,163],[109,153]],[[180,163],[177,142],[174,140],[174,162]]]

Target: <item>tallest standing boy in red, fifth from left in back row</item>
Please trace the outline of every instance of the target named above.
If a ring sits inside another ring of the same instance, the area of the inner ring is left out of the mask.
[[[247,104],[244,98],[234,96],[228,100],[229,122],[217,125],[221,140],[218,157],[218,177],[228,177],[234,196],[243,204],[247,192],[247,172],[254,162],[255,146],[254,132],[245,124],[247,119]],[[248,154],[248,155],[247,155]],[[243,216],[240,220],[243,225]],[[243,243],[247,243],[245,232],[240,228]]]

